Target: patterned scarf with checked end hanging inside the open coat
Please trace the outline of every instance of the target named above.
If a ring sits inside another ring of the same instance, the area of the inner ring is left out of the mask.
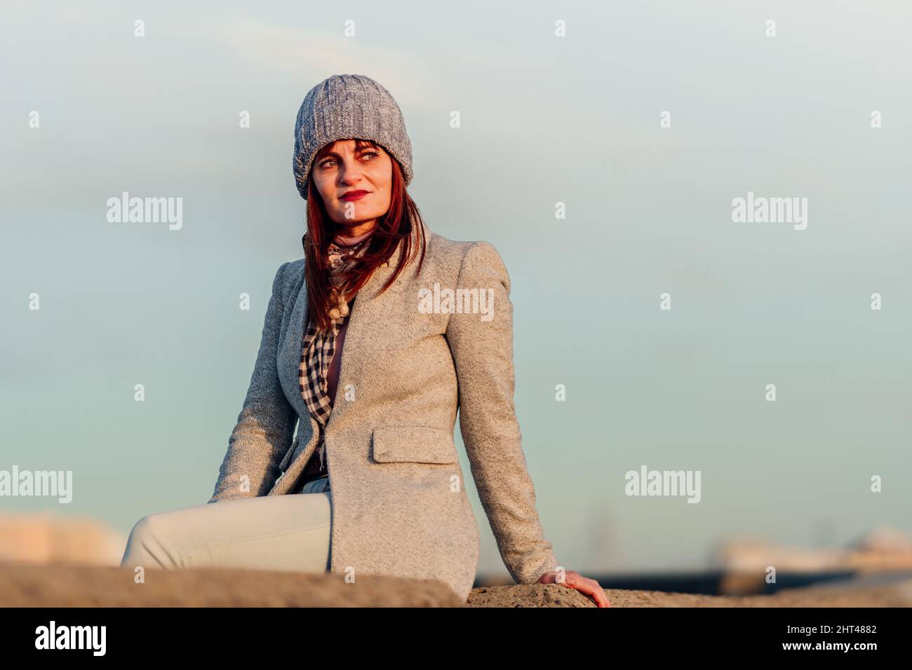
[[[304,341],[301,346],[301,365],[298,368],[298,385],[301,388],[301,395],[310,410],[312,417],[316,418],[319,427],[319,454],[320,454],[320,471],[325,466],[326,442],[324,440],[324,429],[329,421],[329,415],[332,413],[332,398],[328,393],[327,376],[329,364],[336,353],[336,337],[339,328],[345,324],[349,314],[349,303],[343,300],[338,290],[337,278],[339,273],[353,261],[356,257],[362,255],[368,249],[370,236],[360,242],[351,245],[345,245],[344,242],[337,244],[339,238],[336,237],[333,242],[329,243],[326,250],[326,262],[329,265],[330,279],[332,288],[330,291],[330,300],[336,302],[336,306],[329,310],[329,316],[332,319],[328,331],[320,331],[316,327],[314,319],[309,320]],[[350,303],[354,302],[354,298]]]

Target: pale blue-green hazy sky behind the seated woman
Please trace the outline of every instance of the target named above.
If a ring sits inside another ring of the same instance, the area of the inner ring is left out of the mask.
[[[72,470],[74,499],[0,510],[126,534],[210,498],[275,270],[301,255],[297,109],[363,74],[402,109],[430,230],[506,263],[516,412],[559,561],[692,570],[734,536],[912,532],[912,5],[3,15],[0,469]],[[109,222],[123,191],[180,197],[180,230]],[[806,199],[806,226],[733,221],[749,193]],[[643,466],[700,471],[700,502],[628,496]],[[469,486],[479,571],[503,572]]]

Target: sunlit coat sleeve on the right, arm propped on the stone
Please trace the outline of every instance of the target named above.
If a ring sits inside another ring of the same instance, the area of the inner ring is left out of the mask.
[[[513,406],[510,277],[490,242],[472,243],[462,258],[455,288],[478,288],[479,294],[493,296],[490,319],[485,314],[453,313],[446,335],[459,383],[462,440],[479,498],[513,580],[534,583],[558,564],[535,510]]]

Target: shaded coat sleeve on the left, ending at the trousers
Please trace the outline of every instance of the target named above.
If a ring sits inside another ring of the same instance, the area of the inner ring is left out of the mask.
[[[291,447],[297,417],[282,390],[276,364],[284,311],[282,277],[287,264],[282,263],[275,273],[254,374],[208,502],[266,495]]]

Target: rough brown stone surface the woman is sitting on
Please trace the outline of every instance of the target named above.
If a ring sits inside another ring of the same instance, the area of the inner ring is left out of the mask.
[[[147,570],[72,564],[0,564],[0,607],[452,607],[443,582],[259,570]],[[606,590],[613,607],[908,607],[912,582],[804,588],[774,595],[713,596]],[[470,607],[595,607],[560,584],[485,586]]]

